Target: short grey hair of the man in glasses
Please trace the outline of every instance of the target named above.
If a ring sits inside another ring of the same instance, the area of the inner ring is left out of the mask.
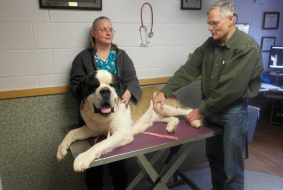
[[[222,17],[222,19],[227,18],[229,15],[234,15],[234,17],[238,17],[237,16],[237,12],[236,12],[236,7],[235,4],[231,1],[228,0],[222,0],[219,2],[216,2],[214,5],[212,5],[210,7],[210,9],[206,12],[206,15],[209,15],[209,13],[213,10],[219,8],[220,10],[220,16]],[[238,18],[237,18],[238,19]],[[234,19],[234,25],[236,24],[236,19]]]

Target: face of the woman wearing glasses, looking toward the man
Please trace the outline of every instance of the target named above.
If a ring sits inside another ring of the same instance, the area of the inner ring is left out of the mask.
[[[91,35],[95,38],[95,45],[111,45],[113,34],[112,23],[108,19],[98,21],[96,27],[91,30]]]

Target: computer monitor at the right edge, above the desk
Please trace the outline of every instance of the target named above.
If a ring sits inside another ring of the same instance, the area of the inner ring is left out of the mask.
[[[283,46],[271,46],[268,68],[278,73],[283,72]]]

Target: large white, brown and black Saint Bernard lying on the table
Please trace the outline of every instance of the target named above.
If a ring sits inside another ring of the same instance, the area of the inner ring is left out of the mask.
[[[111,135],[77,156],[73,165],[76,172],[88,169],[91,162],[101,154],[129,144],[135,134],[144,132],[154,122],[166,122],[166,131],[174,133],[179,124],[179,119],[174,116],[186,115],[192,111],[191,108],[183,107],[176,99],[166,98],[164,108],[159,103],[159,114],[155,113],[152,99],[161,90],[159,87],[142,88],[143,95],[137,104],[129,102],[124,105],[120,100],[126,86],[115,74],[104,70],[89,74],[79,86],[83,97],[80,111],[85,125],[67,133],[58,147],[57,160],[63,160],[71,143],[77,140],[107,136],[108,126]],[[201,121],[194,120],[191,125],[199,128]]]

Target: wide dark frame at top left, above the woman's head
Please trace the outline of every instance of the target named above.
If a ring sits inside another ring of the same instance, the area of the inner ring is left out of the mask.
[[[40,8],[102,10],[102,0],[40,0]]]

